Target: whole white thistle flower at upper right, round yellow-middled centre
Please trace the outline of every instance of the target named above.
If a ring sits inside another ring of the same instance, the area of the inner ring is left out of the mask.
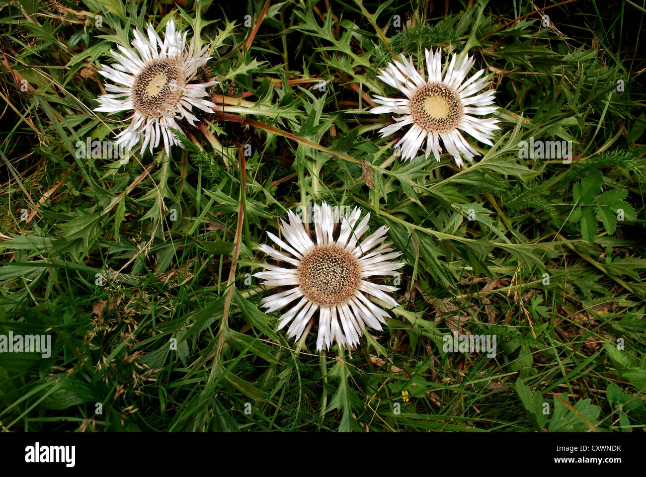
[[[453,54],[448,69],[444,65],[443,71],[441,48],[437,48],[435,52],[427,49],[428,81],[417,72],[412,57],[406,59],[401,55],[401,59],[401,63],[389,63],[377,78],[399,89],[407,99],[375,96],[375,103],[381,106],[370,110],[374,114],[403,114],[393,118],[394,124],[380,129],[382,138],[399,131],[405,125],[412,124],[408,132],[395,144],[395,155],[401,154],[402,159],[412,160],[426,140],[426,158],[428,159],[432,152],[439,161],[441,139],[446,151],[455,159],[455,164],[462,167],[463,156],[473,162],[474,156],[479,153],[458,130],[485,144],[493,145],[490,139],[493,137],[492,131],[500,129],[496,125],[499,121],[494,118],[474,118],[472,115],[482,116],[498,109],[496,106],[490,106],[494,103],[495,90],[488,89],[475,94],[489,84],[489,78],[480,78],[485,70],[479,70],[464,81],[475,63],[472,56]]]

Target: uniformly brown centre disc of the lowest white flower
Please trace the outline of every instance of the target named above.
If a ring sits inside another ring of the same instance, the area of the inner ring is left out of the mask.
[[[320,246],[301,260],[298,280],[307,299],[319,306],[342,304],[359,288],[359,261],[337,246]]]

